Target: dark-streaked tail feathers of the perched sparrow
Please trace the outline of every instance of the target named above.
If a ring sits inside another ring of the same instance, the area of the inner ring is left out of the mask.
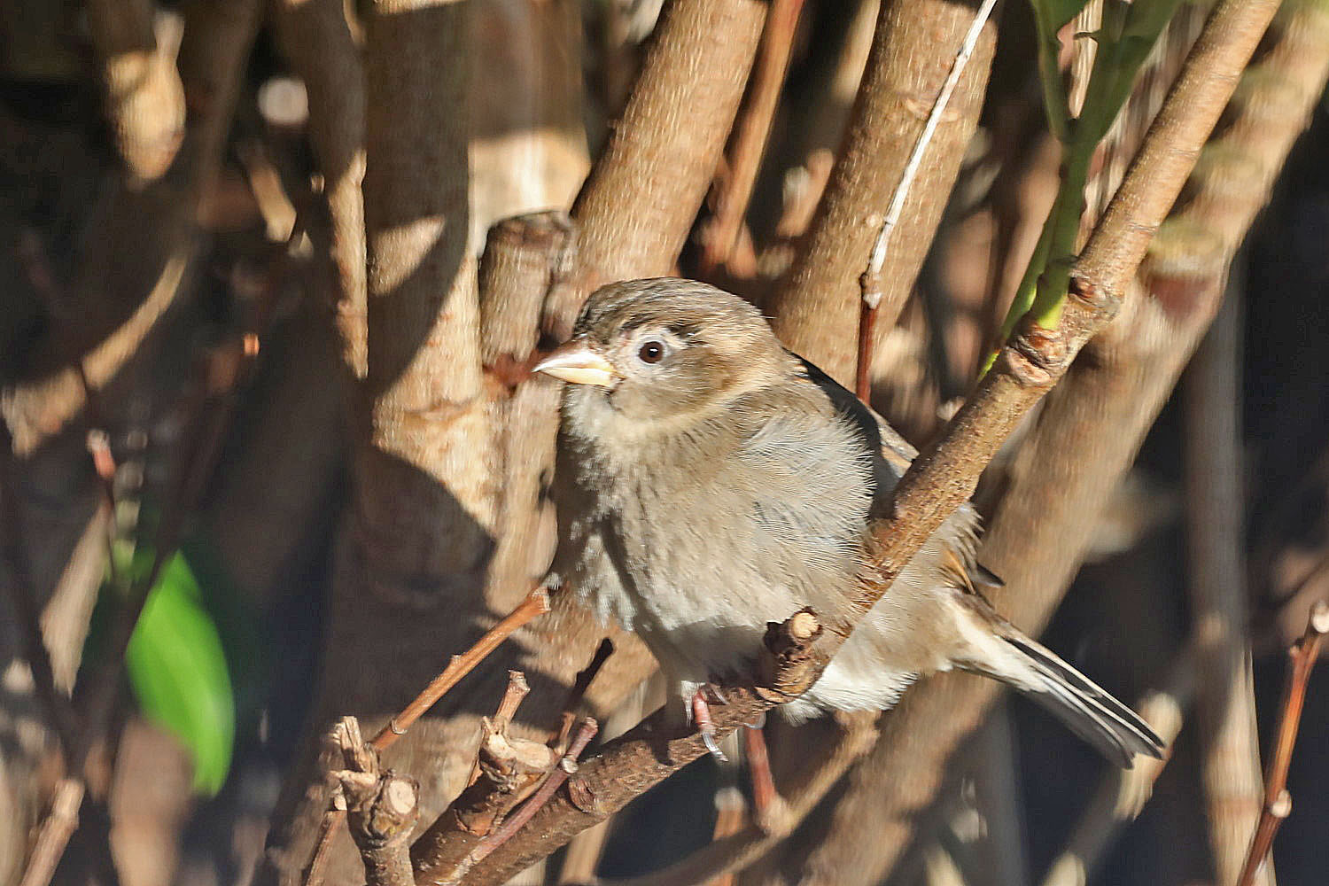
[[[975,631],[960,667],[1026,693],[1120,766],[1130,769],[1136,753],[1162,758],[1158,733],[1103,687],[1001,618],[982,596],[965,594],[962,604]]]

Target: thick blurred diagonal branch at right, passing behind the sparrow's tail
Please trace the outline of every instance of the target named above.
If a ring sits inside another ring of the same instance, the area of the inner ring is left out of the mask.
[[[1123,315],[1088,344],[1087,359],[1076,361],[1047,397],[1007,472],[1010,487],[990,522],[981,559],[1007,583],[993,594],[993,603],[1031,634],[1046,624],[1074,576],[1098,514],[1213,316],[1232,251],[1317,101],[1316,81],[1304,81],[1297,72],[1310,58],[1322,70],[1329,54],[1317,46],[1296,58],[1282,35],[1305,32],[1280,27],[1278,33],[1265,61],[1251,70],[1251,88],[1244,85],[1235,98],[1233,118],[1216,147],[1233,159],[1196,169],[1185,207],[1154,243],[1140,271],[1148,298],[1127,300]],[[1301,40],[1294,44],[1298,49]],[[1275,60],[1281,77],[1267,69]],[[1284,105],[1277,97],[1289,86],[1298,102]],[[1282,109],[1280,126],[1269,125],[1271,101]],[[1237,193],[1225,175],[1231,166],[1248,167],[1248,186]],[[1233,197],[1240,197],[1240,207]],[[845,886],[878,882],[909,846],[948,760],[997,692],[987,680],[950,675],[908,692],[884,721],[881,741],[856,770],[835,813],[831,837],[805,869],[852,871]],[[873,822],[870,834],[861,821]]]

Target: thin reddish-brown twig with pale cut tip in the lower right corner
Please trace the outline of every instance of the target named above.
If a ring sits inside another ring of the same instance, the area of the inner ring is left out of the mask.
[[[1251,851],[1241,869],[1241,875],[1237,878],[1237,886],[1249,886],[1251,881],[1255,879],[1256,870],[1264,863],[1269,847],[1273,846],[1273,836],[1278,830],[1278,825],[1292,813],[1288,766],[1292,764],[1292,748],[1297,744],[1301,708],[1306,700],[1306,683],[1310,680],[1310,669],[1316,665],[1316,656],[1320,655],[1320,640],[1325,634],[1329,634],[1329,603],[1320,602],[1310,610],[1306,632],[1288,650],[1288,655],[1292,656],[1292,669],[1288,672],[1288,681],[1282,689],[1278,736],[1275,740],[1273,757],[1269,760],[1269,772],[1264,780],[1264,809],[1260,810],[1260,824],[1256,825]]]

